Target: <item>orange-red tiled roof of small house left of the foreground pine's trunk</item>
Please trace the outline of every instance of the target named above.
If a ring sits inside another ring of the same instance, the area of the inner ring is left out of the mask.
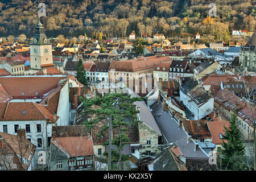
[[[60,137],[53,138],[52,143],[70,158],[76,156],[93,155],[93,140],[88,137]]]

